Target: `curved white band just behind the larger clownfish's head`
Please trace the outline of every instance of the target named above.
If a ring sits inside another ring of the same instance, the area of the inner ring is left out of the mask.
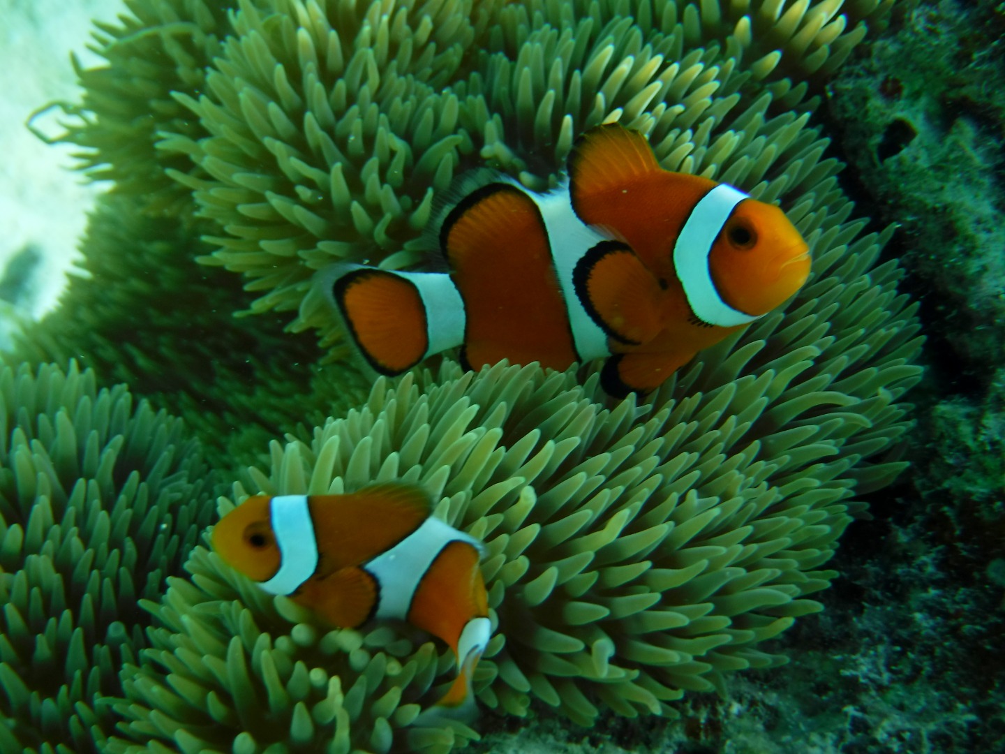
[[[725,328],[748,325],[760,319],[738,312],[724,302],[709,269],[712,244],[730,219],[734,207],[748,198],[733,186],[719,184],[694,205],[673,246],[673,267],[687,304],[699,320],[710,325]]]

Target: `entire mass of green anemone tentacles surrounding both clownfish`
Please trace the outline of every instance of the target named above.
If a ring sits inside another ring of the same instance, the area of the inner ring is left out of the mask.
[[[199,544],[257,492],[437,492],[487,548],[489,710],[673,715],[784,662],[762,642],[820,609],[858,498],[903,467],[920,375],[915,306],[896,262],[876,263],[889,231],[862,235],[813,120],[891,2],[127,5],[95,37],[108,65],[78,71],[66,136],[116,182],[83,243],[93,279],[0,375],[5,748],[477,737],[417,718],[448,649],[402,626],[332,631]],[[589,367],[444,359],[367,385],[314,271],[421,265],[454,175],[548,186],[573,139],[614,120],[666,169],[781,202],[807,286],[641,402],[609,401]],[[44,364],[70,357],[85,369]],[[215,472],[181,422],[96,387],[116,381],[182,416]]]

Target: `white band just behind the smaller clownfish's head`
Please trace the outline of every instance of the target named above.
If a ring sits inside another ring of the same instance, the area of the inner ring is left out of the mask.
[[[279,546],[279,570],[261,588],[271,594],[292,594],[318,568],[318,542],[308,508],[308,496],[282,495],[269,501],[272,534]]]

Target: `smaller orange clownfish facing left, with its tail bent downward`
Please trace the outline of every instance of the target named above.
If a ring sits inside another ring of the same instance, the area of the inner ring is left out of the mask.
[[[262,589],[333,625],[397,618],[443,639],[458,672],[436,707],[469,710],[491,632],[482,549],[431,509],[420,488],[395,483],[351,495],[254,496],[220,520],[212,544]]]

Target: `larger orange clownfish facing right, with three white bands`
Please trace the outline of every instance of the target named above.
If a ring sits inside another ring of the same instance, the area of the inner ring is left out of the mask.
[[[339,262],[318,275],[380,374],[459,346],[466,369],[607,357],[609,394],[644,393],[810,271],[780,208],[663,170],[644,136],[616,124],[579,137],[556,190],[495,177],[446,212],[435,237],[447,273]]]

